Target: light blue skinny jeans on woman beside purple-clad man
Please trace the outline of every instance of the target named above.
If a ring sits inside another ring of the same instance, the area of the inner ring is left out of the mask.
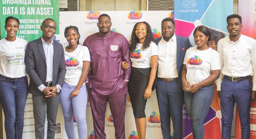
[[[68,85],[64,82],[60,94],[60,103],[64,117],[65,131],[69,139],[75,139],[74,115],[76,118],[79,139],[87,138],[86,124],[86,104],[87,91],[83,85],[76,97],[70,97],[70,94],[75,90],[76,86]]]

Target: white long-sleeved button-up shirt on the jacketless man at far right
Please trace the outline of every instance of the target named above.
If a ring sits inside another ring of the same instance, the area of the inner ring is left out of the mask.
[[[221,74],[216,80],[217,90],[220,91],[224,75],[230,77],[253,76],[252,90],[256,91],[256,40],[244,35],[233,42],[229,36],[220,39],[217,51],[221,58]]]

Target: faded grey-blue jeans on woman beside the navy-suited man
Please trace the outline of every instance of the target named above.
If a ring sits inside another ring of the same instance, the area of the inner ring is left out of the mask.
[[[191,118],[193,139],[204,139],[204,119],[213,100],[213,85],[201,87],[195,93],[184,92],[184,99]]]

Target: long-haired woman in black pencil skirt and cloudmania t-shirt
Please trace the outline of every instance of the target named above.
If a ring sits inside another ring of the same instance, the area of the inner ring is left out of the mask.
[[[138,22],[134,25],[130,40],[132,71],[128,82],[128,92],[139,139],[145,139],[145,105],[151,96],[151,88],[157,71],[158,48],[152,42],[153,39],[151,27],[147,22]],[[128,66],[123,61],[122,68],[125,69]]]

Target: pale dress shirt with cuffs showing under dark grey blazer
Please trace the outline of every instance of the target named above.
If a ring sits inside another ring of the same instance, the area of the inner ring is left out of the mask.
[[[51,43],[48,45],[44,40],[43,38],[41,37],[42,39],[42,43],[43,43],[43,50],[44,50],[44,55],[45,55],[45,58],[46,58],[46,64],[47,64],[47,68],[46,68],[46,82],[49,82],[49,81],[52,81],[52,74],[53,74],[53,40],[51,41]],[[60,89],[61,89],[61,86],[60,85],[56,85],[58,86]],[[40,91],[43,91],[44,88],[46,86],[44,84],[41,84],[38,89]]]

